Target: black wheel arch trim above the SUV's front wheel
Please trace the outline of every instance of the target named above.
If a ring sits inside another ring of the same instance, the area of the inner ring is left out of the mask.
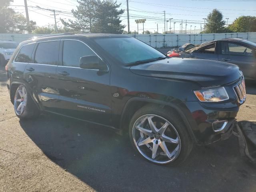
[[[196,137],[192,131],[192,128],[190,126],[188,119],[186,118],[184,112],[180,109],[180,107],[174,102],[165,102],[165,101],[155,100],[151,98],[131,98],[126,102],[124,109],[122,110],[122,114],[120,118],[120,129],[122,131],[125,131],[126,129],[128,130],[127,122],[130,120],[134,112],[136,112],[142,106],[145,106],[148,104],[156,104],[158,106],[161,106],[162,108],[175,110],[180,116],[180,118],[182,118],[190,138],[194,143],[197,143]]]

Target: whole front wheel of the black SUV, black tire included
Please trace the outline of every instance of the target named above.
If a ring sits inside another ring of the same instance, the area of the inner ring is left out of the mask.
[[[193,147],[182,119],[157,105],[144,106],[134,114],[129,135],[135,150],[155,164],[178,165]]]

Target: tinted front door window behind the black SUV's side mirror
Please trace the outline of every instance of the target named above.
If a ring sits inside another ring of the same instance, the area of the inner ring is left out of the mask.
[[[85,44],[74,40],[63,42],[63,66],[79,67],[82,56],[95,55]]]

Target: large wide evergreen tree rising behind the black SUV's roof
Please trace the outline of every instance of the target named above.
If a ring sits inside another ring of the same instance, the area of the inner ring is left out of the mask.
[[[72,10],[76,20],[61,20],[68,28],[79,32],[121,34],[125,25],[121,24],[118,10],[121,4],[108,0],[78,0],[77,10]]]

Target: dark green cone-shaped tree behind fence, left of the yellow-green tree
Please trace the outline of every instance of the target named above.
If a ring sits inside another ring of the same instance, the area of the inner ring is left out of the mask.
[[[225,29],[224,25],[225,21],[223,20],[222,13],[219,10],[214,9],[207,16],[204,33],[222,33]]]

